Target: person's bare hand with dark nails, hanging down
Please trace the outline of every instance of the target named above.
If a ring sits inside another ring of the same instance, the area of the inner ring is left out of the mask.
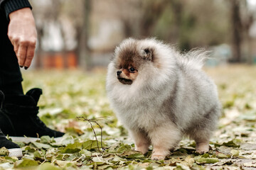
[[[21,8],[9,14],[8,36],[14,45],[20,67],[31,65],[36,49],[36,24],[30,8]]]

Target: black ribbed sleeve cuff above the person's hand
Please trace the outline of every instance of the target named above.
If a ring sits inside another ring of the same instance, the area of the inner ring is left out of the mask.
[[[32,8],[28,0],[0,0],[0,9],[5,11],[8,20],[11,12],[26,7]]]

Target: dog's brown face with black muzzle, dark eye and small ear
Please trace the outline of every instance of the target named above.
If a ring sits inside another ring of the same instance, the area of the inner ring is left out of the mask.
[[[115,57],[117,79],[122,84],[131,85],[137,79],[142,64],[151,62],[152,53],[149,48],[138,50],[134,42],[125,47],[119,47]]]

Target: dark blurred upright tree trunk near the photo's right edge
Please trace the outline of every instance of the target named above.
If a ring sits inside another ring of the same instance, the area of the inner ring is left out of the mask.
[[[230,62],[241,62],[242,23],[240,17],[240,0],[230,0],[231,27],[232,27],[232,52]]]

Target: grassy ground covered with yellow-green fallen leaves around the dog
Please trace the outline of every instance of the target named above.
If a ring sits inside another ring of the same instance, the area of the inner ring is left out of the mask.
[[[151,151],[142,155],[133,150],[134,143],[107,101],[105,70],[23,72],[26,91],[43,89],[41,120],[66,135],[60,141],[41,137],[36,142],[18,142],[22,159],[7,157],[6,149],[0,149],[0,169],[255,169],[256,67],[206,72],[218,85],[223,104],[210,152],[196,154],[195,143],[184,138],[176,151],[159,162],[149,158]]]

